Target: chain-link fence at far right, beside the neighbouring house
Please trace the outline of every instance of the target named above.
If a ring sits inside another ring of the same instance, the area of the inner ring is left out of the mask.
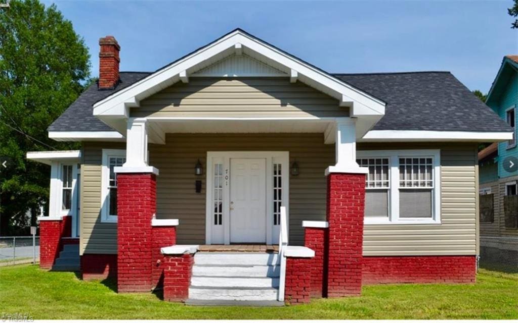
[[[518,237],[480,237],[479,267],[518,272]]]

